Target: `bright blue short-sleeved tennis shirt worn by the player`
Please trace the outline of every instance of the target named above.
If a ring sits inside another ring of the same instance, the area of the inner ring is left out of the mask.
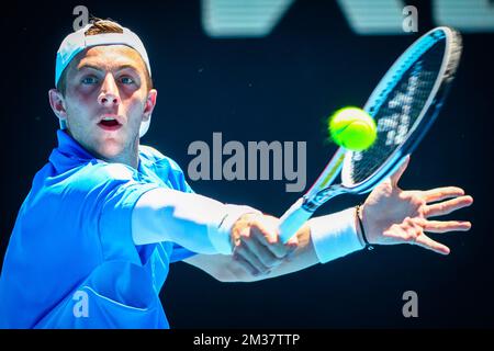
[[[96,159],[66,132],[34,177],[0,276],[0,328],[168,328],[159,301],[172,242],[135,246],[132,211],[145,192],[192,192],[177,163],[139,146],[139,166]]]

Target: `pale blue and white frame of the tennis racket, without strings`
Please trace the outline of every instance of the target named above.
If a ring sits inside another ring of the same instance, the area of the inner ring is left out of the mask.
[[[417,118],[418,123],[408,131],[407,139],[390,155],[371,177],[357,184],[352,184],[350,180],[353,151],[339,147],[311,189],[280,218],[279,235],[282,242],[287,242],[312,214],[328,200],[344,193],[364,194],[370,192],[385,178],[394,173],[405,157],[416,148],[435,122],[454,78],[462,48],[461,36],[458,32],[447,26],[440,26],[424,34],[395,60],[363,106],[363,110],[373,116],[374,112],[379,111],[379,107],[385,101],[388,93],[398,82],[395,78],[411,68],[416,63],[417,57],[442,38],[446,38],[446,47],[440,70]],[[333,184],[340,172],[341,184]]]

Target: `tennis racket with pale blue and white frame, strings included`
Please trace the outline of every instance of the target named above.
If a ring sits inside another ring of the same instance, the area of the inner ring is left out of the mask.
[[[280,218],[283,242],[329,199],[368,193],[400,167],[436,120],[461,50],[460,34],[441,26],[398,57],[363,106],[378,126],[375,143],[364,151],[338,148],[311,189]],[[334,184],[339,173],[341,182]]]

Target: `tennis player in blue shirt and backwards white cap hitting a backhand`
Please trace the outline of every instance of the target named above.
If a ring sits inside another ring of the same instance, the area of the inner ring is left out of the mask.
[[[58,147],[34,177],[10,238],[2,328],[169,328],[158,294],[170,263],[249,282],[368,244],[447,254],[425,231],[471,226],[428,219],[473,200],[454,186],[401,190],[407,162],[358,211],[312,218],[287,245],[277,218],[194,194],[173,160],[139,145],[157,91],[143,43],[115,22],[96,20],[63,41],[55,86]]]

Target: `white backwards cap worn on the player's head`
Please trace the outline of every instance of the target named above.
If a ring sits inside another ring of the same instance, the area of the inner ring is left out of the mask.
[[[147,57],[146,49],[139,37],[128,29],[123,29],[123,33],[106,33],[86,36],[86,31],[92,24],[89,23],[77,32],[70,33],[61,42],[57,52],[56,67],[55,67],[55,87],[60,80],[64,69],[70,64],[77,54],[85,50],[88,47],[99,45],[126,45],[139,53],[144,63],[146,64],[149,76],[151,73],[149,58]],[[60,128],[65,129],[66,123],[64,120],[59,120]],[[150,116],[146,122],[141,123],[139,137],[144,136],[149,128]]]

